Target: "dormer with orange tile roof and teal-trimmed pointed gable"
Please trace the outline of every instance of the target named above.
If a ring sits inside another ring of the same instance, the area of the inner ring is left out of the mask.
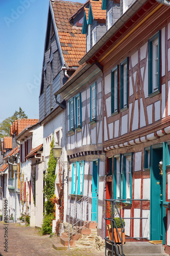
[[[84,18],[82,33],[86,34],[86,52],[106,32],[106,11],[102,10],[102,0],[89,0],[84,4]]]

